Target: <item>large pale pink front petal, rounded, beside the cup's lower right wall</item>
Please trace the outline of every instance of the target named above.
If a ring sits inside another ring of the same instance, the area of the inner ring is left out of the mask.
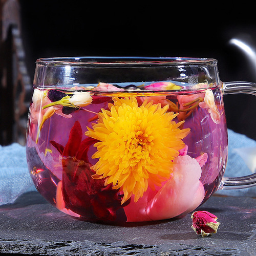
[[[174,159],[173,169],[173,179],[166,182],[146,208],[152,220],[174,218],[195,207],[194,199],[202,172],[199,163],[188,155],[178,156]],[[197,203],[201,199],[197,198]]]

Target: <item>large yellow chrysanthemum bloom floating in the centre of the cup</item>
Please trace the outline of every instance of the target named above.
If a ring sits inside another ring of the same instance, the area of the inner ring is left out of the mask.
[[[180,130],[183,123],[173,119],[178,115],[167,113],[168,105],[161,108],[153,101],[141,106],[135,97],[114,97],[109,111],[98,113],[98,122],[88,127],[86,135],[99,140],[94,146],[98,158],[92,166],[94,178],[105,178],[105,185],[120,188],[122,203],[135,195],[135,202],[148,186],[155,189],[172,173],[175,157],[185,144],[182,139],[189,129]]]

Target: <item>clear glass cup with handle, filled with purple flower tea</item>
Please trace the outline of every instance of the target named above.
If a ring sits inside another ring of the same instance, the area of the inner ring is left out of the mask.
[[[36,61],[27,161],[39,193],[85,221],[138,222],[193,211],[215,191],[228,156],[221,82],[206,58],[68,57]]]

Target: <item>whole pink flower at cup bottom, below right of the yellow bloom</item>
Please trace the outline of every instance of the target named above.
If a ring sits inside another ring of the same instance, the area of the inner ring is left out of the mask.
[[[197,208],[205,190],[200,181],[202,169],[197,159],[180,155],[173,161],[173,173],[162,187],[150,188],[143,197],[124,207],[127,221],[152,221],[174,218]]]

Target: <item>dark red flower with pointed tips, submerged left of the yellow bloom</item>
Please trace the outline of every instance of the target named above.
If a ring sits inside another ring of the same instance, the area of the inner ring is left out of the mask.
[[[88,159],[89,147],[96,139],[82,140],[82,129],[75,122],[66,146],[55,141],[52,145],[62,155],[62,196],[66,207],[88,221],[115,221],[116,211],[121,205],[122,196],[111,185],[105,186],[104,180],[92,178],[95,172],[90,168]],[[119,211],[120,218],[125,217],[124,211]],[[126,218],[124,218],[126,221]]]

